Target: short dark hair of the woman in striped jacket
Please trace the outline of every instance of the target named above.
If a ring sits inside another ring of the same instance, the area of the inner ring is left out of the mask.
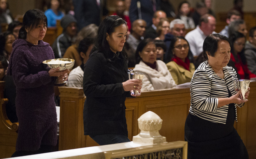
[[[227,41],[230,45],[229,39],[222,34],[214,33],[208,35],[203,41],[203,58],[208,60],[207,52],[208,55],[214,57],[215,52],[218,50],[218,42],[224,40]]]

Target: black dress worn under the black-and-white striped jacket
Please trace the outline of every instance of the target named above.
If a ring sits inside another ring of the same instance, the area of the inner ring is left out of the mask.
[[[226,124],[213,123],[189,113],[185,123],[188,159],[248,159],[247,149],[234,128],[234,121],[234,103],[228,105]]]

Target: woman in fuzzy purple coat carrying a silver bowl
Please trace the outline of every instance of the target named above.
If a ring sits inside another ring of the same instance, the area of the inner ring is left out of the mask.
[[[19,39],[13,43],[8,74],[13,76],[17,89],[19,132],[12,157],[51,152],[57,143],[54,80],[67,80],[69,70],[44,68],[43,61],[54,59],[52,48],[43,42],[46,30],[44,13],[29,10],[24,15]]]

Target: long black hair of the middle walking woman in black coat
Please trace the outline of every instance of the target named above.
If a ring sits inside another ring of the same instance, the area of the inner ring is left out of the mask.
[[[106,57],[110,57],[109,54],[111,53],[111,50],[106,39],[106,34],[108,33],[111,35],[115,31],[115,28],[121,26],[122,24],[126,25],[126,22],[119,16],[108,16],[104,18],[104,20],[99,25],[97,37],[91,53],[98,50],[99,52],[102,52]],[[125,58],[127,57],[127,53],[124,48],[120,53]]]

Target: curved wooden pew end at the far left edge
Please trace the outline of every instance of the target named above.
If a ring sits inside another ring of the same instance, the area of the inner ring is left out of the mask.
[[[19,123],[11,123],[7,118],[5,104],[8,102],[8,99],[4,98],[4,83],[4,81],[0,81],[0,158],[11,157],[15,152],[19,127]]]

